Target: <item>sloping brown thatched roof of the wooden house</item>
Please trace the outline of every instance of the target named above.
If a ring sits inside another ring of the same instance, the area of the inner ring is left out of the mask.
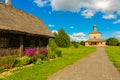
[[[46,25],[37,17],[0,3],[0,31],[3,30],[54,37]]]

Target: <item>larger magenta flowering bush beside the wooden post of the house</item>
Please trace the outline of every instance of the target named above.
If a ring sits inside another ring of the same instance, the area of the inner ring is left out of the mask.
[[[35,48],[28,48],[25,49],[25,51],[21,54],[21,56],[28,56],[28,57],[34,57],[36,55],[36,49]]]

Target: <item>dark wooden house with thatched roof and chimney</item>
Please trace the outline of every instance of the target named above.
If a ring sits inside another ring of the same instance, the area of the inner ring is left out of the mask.
[[[37,17],[0,2],[0,56],[20,54],[24,49],[46,47],[54,37]]]

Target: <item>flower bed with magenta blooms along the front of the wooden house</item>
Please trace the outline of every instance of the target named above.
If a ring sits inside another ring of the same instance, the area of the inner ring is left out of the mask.
[[[2,57],[0,59],[0,73],[12,69],[13,67],[23,67],[29,64],[42,64],[44,61],[48,61],[52,58],[48,53],[51,54],[55,52],[51,50],[48,51],[46,48],[28,48],[23,51],[21,56]],[[55,56],[55,54],[53,54],[53,56]]]

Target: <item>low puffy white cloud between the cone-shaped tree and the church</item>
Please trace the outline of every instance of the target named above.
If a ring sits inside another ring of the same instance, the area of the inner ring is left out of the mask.
[[[71,41],[77,41],[77,42],[87,40],[87,39],[85,38],[85,34],[82,33],[82,32],[73,33],[72,35],[70,35],[70,39],[71,39]]]

